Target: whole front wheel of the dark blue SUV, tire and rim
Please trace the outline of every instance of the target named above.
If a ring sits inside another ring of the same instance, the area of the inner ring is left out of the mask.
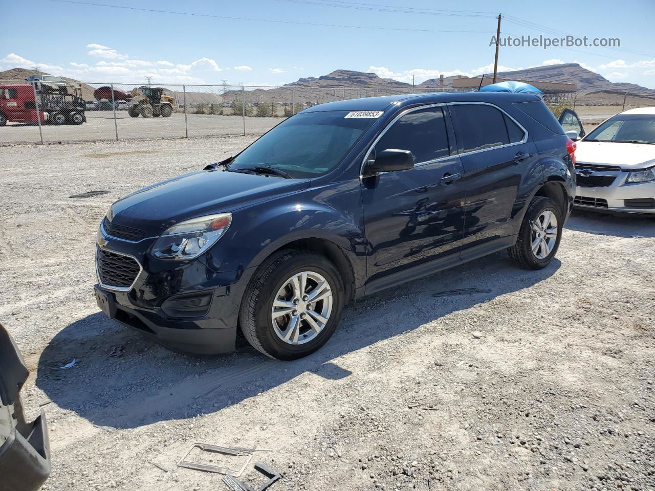
[[[312,251],[279,251],[251,281],[239,315],[253,348],[278,359],[297,359],[323,346],[343,309],[337,268]]]

